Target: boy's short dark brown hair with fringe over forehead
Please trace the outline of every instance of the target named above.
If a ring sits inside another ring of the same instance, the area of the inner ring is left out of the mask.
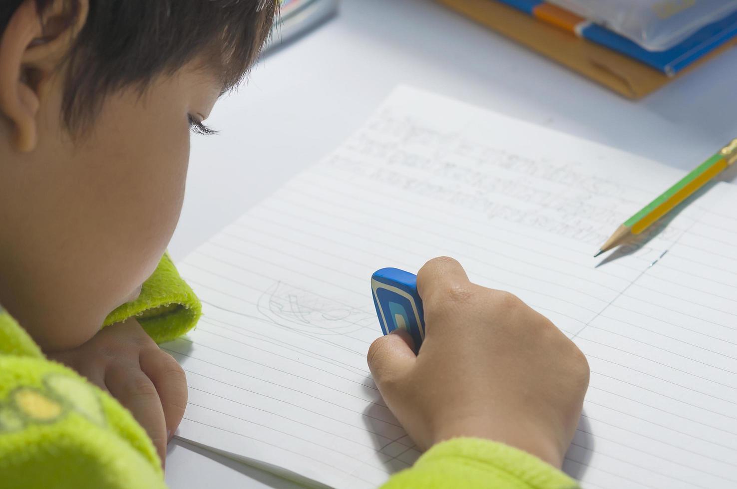
[[[67,0],[69,7],[76,0]],[[0,33],[23,0],[0,0]],[[35,0],[43,13],[52,0]],[[106,94],[144,89],[199,54],[237,85],[268,37],[277,0],[89,0],[85,25],[64,66],[63,119],[70,129],[90,122]]]

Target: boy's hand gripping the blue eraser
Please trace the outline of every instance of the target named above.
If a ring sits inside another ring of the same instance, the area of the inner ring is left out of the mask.
[[[514,295],[471,284],[451,258],[428,261],[417,289],[419,355],[404,332],[368,350],[386,404],[415,443],[489,438],[560,468],[588,386],[583,353]]]

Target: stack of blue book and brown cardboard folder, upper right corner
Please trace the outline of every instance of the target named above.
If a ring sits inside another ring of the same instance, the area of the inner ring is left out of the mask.
[[[737,13],[664,51],[542,0],[439,0],[628,98],[638,99],[737,43]]]

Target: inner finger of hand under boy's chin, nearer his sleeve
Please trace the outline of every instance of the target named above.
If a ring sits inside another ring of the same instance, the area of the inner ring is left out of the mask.
[[[167,425],[153,382],[140,369],[111,366],[105,373],[105,384],[146,430],[163,466],[167,456]]]

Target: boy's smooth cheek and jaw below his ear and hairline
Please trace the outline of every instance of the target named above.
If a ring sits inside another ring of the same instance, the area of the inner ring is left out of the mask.
[[[22,215],[12,267],[29,281],[13,284],[27,306],[16,315],[49,351],[85,342],[136,298],[178,222],[189,160],[185,97],[170,87],[147,94],[109,97],[78,145],[44,126],[27,155],[33,164],[12,167],[23,187],[14,196]]]

